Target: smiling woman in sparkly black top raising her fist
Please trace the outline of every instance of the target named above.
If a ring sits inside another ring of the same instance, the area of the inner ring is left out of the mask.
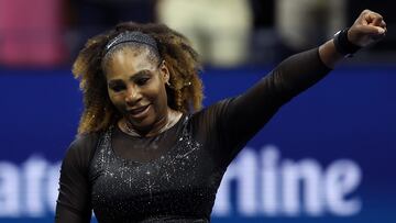
[[[294,55],[241,96],[199,110],[197,54],[157,24],[123,23],[75,65],[85,111],[62,165],[56,222],[209,222],[227,166],[279,107],[380,40],[382,16]]]

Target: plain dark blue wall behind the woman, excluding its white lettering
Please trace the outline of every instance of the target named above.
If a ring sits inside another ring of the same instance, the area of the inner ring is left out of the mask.
[[[243,92],[267,71],[206,70],[205,104]],[[234,215],[213,222],[396,222],[395,87],[396,66],[339,67],[284,105],[249,144],[254,148],[275,144],[283,157],[312,157],[323,166],[339,158],[355,160],[363,171],[358,191],[361,213],[351,218]],[[21,164],[33,153],[54,163],[62,159],[81,112],[78,81],[69,70],[0,69],[0,161]],[[52,222],[52,218],[48,213],[46,219],[0,222]]]

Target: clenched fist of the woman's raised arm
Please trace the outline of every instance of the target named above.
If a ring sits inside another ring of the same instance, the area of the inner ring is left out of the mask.
[[[382,40],[385,34],[386,23],[383,16],[364,10],[348,31],[348,40],[358,46],[365,47]]]

